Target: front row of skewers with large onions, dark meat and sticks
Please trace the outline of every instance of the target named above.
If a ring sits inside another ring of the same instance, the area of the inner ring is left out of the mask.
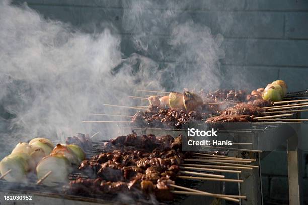
[[[12,154],[0,162],[2,176],[9,182],[26,182],[36,174],[37,184],[58,186],[69,194],[142,193],[155,195],[158,200],[172,200],[174,194],[211,196],[239,202],[241,195],[214,194],[179,186],[175,181],[210,180],[242,183],[226,179],[220,173],[241,173],[253,169],[254,159],[242,159],[214,154],[181,151],[178,136],[137,136],[136,133],[108,140],[101,147],[109,150],[85,160],[85,152],[77,145],[53,144],[46,138],[19,143]],[[76,168],[78,167],[78,168]],[[68,175],[79,170],[87,178],[68,182]],[[215,174],[218,172],[219,174]],[[177,190],[179,189],[179,190]]]

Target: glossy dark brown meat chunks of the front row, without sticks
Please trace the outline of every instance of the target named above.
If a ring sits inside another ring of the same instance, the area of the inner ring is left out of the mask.
[[[181,146],[181,136],[137,136],[132,133],[109,140],[104,148],[117,149],[84,160],[79,169],[89,178],[70,181],[64,190],[78,195],[127,193],[172,200],[174,196],[169,184],[175,183],[179,165],[189,154],[181,152]]]

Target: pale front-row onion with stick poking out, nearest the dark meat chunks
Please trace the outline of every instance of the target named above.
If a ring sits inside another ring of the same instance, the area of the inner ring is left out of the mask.
[[[36,167],[37,178],[41,179],[51,171],[51,174],[42,181],[46,186],[57,186],[59,183],[67,183],[71,172],[70,162],[63,156],[44,157]]]

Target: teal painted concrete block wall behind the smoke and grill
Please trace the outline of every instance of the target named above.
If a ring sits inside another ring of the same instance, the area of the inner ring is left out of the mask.
[[[15,0],[13,4],[24,1]],[[130,34],[123,32],[122,18],[130,1],[133,0],[26,2],[45,18],[67,22],[85,32],[99,30],[104,22],[112,23],[122,35],[121,49],[128,56],[135,50],[129,44]],[[157,2],[163,5],[165,1]],[[164,8],[157,4],[157,8],[149,9]],[[290,91],[308,89],[307,0],[193,0],[180,9],[183,17],[189,16],[195,23],[209,27],[213,35],[223,35],[222,48],[226,55],[220,63],[228,81],[236,74],[249,79],[255,88],[282,79],[288,83]],[[164,38],[168,34],[154,35]],[[156,60],[168,61],[164,57]],[[306,141],[303,143],[308,144]],[[265,201],[287,204],[286,153],[269,154],[262,161],[262,168]],[[304,180],[308,184],[307,179]],[[304,191],[308,193],[307,188]]]

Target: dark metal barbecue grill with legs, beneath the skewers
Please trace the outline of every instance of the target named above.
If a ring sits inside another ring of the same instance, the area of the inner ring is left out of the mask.
[[[288,95],[287,98],[302,99],[307,97],[307,91],[300,91]],[[300,113],[296,114],[297,118],[300,118]],[[173,128],[149,128],[149,127],[125,127],[124,129],[134,130],[138,134],[155,134],[160,135],[172,135],[178,136],[179,134],[186,136],[186,128],[195,127],[199,129],[209,129],[211,125],[204,124],[204,122],[194,122],[193,124],[187,124],[182,129]],[[215,127],[217,128],[217,127]],[[247,199],[240,200],[240,204],[263,204],[262,201],[262,181],[261,181],[261,163],[260,160],[267,154],[258,152],[258,150],[272,151],[277,148],[283,142],[287,142],[288,149],[288,171],[289,171],[289,192],[290,201],[300,204],[302,186],[300,184],[301,179],[301,162],[300,150],[297,148],[297,140],[300,131],[299,123],[280,124],[279,122],[265,122],[265,123],[244,123],[240,126],[237,124],[229,123],[219,127],[219,132],[225,133],[234,142],[239,143],[251,143],[251,144],[238,144],[234,148],[205,148],[204,150],[198,150],[200,152],[219,151],[220,154],[227,154],[228,156],[242,157],[243,154],[251,159],[256,159],[252,165],[256,165],[259,168],[245,171],[241,174],[237,174],[237,179],[243,179],[243,183],[238,183],[239,195],[247,196]],[[111,150],[103,150],[103,144],[106,141],[93,142],[93,148],[87,151],[87,156],[90,158],[93,155],[101,152],[108,152]],[[54,144],[60,143],[54,141]],[[254,152],[255,150],[255,152]],[[70,174],[69,179],[74,180],[78,177],[86,177],[82,173],[74,172]],[[184,180],[178,179],[177,185],[202,189],[211,193],[225,193],[227,185],[225,182],[214,181],[200,181],[200,180]],[[26,194],[32,195],[33,200],[28,204],[151,204],[152,201],[147,201],[142,197],[128,198],[120,197],[111,194],[102,195],[68,195],[62,191],[62,186],[57,188],[45,187],[43,185],[37,186],[34,179],[29,184],[10,183],[4,180],[0,180],[0,204],[10,204],[10,201],[4,200],[4,195],[10,194]],[[124,200],[125,199],[125,200]],[[176,198],[172,202],[162,202],[160,204],[191,204],[200,200],[200,204],[215,203],[214,198],[209,197],[196,197],[186,195],[176,195]],[[199,203],[198,202],[198,203]],[[24,204],[24,201],[11,201],[11,204]]]

